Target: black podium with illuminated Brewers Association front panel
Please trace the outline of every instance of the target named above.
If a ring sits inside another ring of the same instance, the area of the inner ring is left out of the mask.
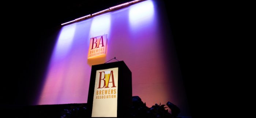
[[[93,65],[88,118],[128,118],[132,104],[132,73],[124,61]]]

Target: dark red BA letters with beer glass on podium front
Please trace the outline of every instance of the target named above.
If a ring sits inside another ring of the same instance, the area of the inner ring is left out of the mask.
[[[104,77],[102,78],[102,74],[104,75]],[[111,79],[110,79],[111,78]],[[111,81],[110,81],[111,80]],[[101,84],[101,82],[103,81],[103,85]],[[114,73],[113,70],[111,71],[104,71],[104,72],[99,72],[99,87],[97,89],[101,89],[101,88],[109,88],[109,84],[112,84],[112,87],[116,87],[115,86],[115,82],[114,82]]]

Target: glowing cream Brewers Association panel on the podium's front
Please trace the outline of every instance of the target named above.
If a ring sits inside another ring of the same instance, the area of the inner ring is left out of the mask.
[[[118,68],[97,70],[91,117],[117,117]]]

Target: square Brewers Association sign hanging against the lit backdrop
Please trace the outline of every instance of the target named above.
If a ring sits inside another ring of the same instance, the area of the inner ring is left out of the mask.
[[[90,38],[88,58],[106,54],[107,34]]]

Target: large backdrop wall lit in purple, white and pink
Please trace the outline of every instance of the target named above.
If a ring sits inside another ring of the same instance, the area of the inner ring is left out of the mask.
[[[158,2],[143,1],[64,26],[38,104],[86,103],[91,65],[116,57],[132,72],[133,96],[138,95],[149,107],[170,101],[180,107],[181,115],[188,115],[176,54],[163,48],[171,35],[164,33],[165,17]],[[87,59],[90,38],[103,34],[108,34],[106,55]],[[169,46],[168,50],[174,49]]]

